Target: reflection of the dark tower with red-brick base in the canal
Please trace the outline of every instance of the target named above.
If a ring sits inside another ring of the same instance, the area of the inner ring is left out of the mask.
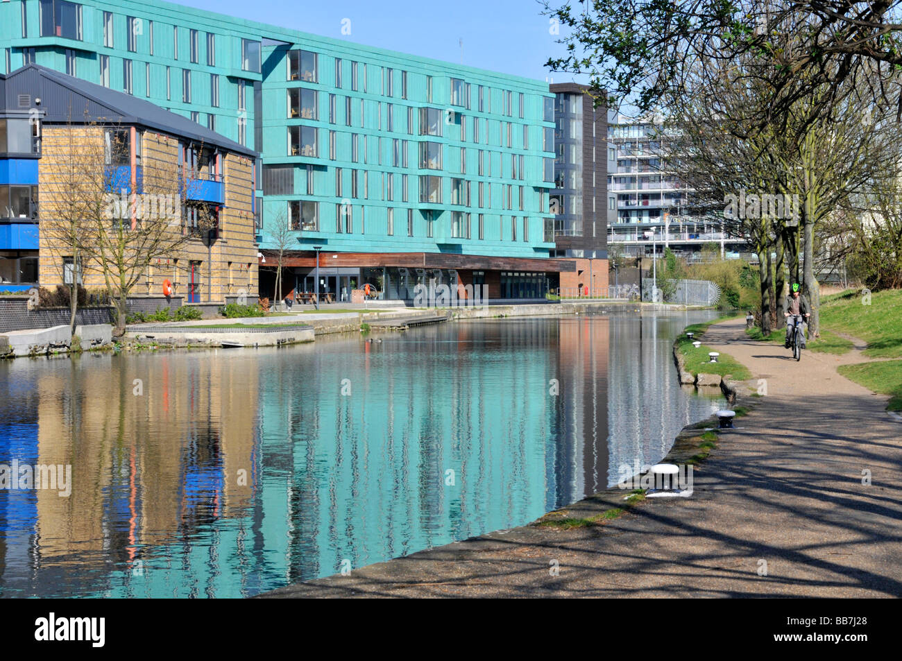
[[[559,333],[553,491],[557,499],[549,503],[549,510],[607,486],[608,319],[563,317]]]

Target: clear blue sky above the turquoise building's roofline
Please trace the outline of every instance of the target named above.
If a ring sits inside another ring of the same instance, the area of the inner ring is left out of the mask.
[[[564,49],[537,0],[170,1],[436,60],[461,62],[462,39],[465,65],[556,83],[575,79],[545,67]],[[350,35],[341,33],[345,18]]]

